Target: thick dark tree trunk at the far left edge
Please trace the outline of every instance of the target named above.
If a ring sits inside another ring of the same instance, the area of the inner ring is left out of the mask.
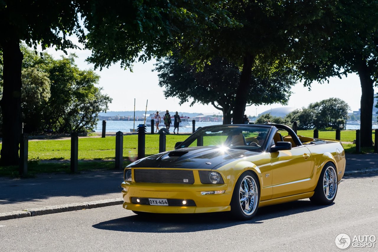
[[[9,38],[9,37],[8,37]],[[23,55],[20,40],[7,39],[3,49],[3,97],[0,106],[3,112],[3,143],[0,165],[19,165],[19,140],[21,134],[21,68]]]

